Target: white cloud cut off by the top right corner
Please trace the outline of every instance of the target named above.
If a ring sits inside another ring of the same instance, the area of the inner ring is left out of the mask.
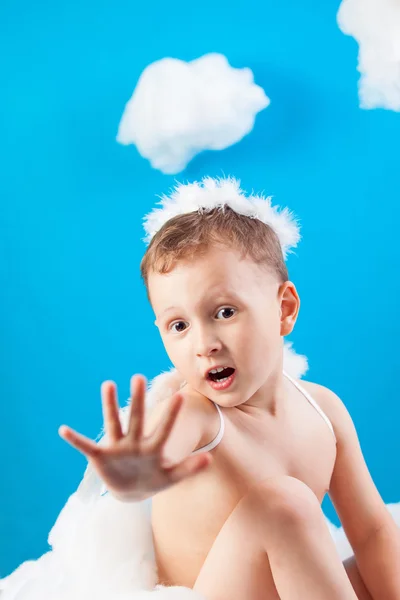
[[[343,0],[338,24],[359,44],[360,106],[400,111],[400,0]]]

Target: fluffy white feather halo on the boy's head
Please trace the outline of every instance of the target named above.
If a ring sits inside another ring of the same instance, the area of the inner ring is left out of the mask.
[[[277,234],[286,260],[287,254],[300,241],[300,227],[288,208],[272,206],[271,196],[246,196],[240,181],[233,178],[204,177],[201,182],[178,184],[170,196],[161,197],[161,208],[154,208],[143,218],[144,242],[150,243],[161,227],[177,215],[195,211],[211,211],[227,205],[235,212],[269,225]]]

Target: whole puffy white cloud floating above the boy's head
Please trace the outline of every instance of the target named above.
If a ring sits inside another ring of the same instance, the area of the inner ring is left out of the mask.
[[[241,140],[269,103],[252,71],[231,67],[222,54],[163,58],[141,74],[117,141],[135,144],[155,169],[179,173],[198,152]]]

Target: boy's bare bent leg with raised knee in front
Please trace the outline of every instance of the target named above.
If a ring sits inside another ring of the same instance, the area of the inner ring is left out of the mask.
[[[207,600],[357,600],[318,499],[284,476],[242,498],[193,589]]]

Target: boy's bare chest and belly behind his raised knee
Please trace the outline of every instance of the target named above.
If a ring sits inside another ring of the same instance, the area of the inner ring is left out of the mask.
[[[234,411],[235,409],[229,409]],[[291,475],[322,502],[336,457],[332,432],[309,405],[279,422],[258,422],[227,409],[225,435],[213,463],[191,480],[158,494],[152,524],[160,582],[193,585],[226,519],[263,479]]]

